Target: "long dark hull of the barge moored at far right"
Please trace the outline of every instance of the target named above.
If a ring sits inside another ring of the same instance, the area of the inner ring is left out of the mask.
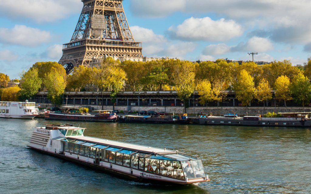
[[[243,119],[220,119],[199,118],[200,124],[205,125],[228,125],[228,126],[262,126],[262,127],[311,127],[311,120],[243,120]]]

